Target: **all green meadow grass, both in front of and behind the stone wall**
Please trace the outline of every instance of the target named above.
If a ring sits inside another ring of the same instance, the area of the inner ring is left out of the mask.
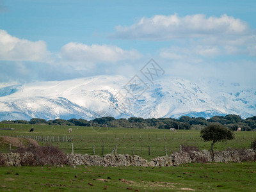
[[[210,148],[210,142],[200,138],[200,131],[159,129],[124,129],[107,127],[3,125],[15,130],[0,130],[1,136],[41,138],[41,145],[52,143],[66,153],[109,154],[117,146],[118,154],[134,154],[145,159],[164,156],[179,150],[182,145],[194,145],[200,150]],[[256,132],[234,132],[232,141],[216,143],[215,150],[249,148]],[[45,141],[46,140],[46,141]],[[63,141],[64,140],[64,141]],[[148,155],[148,145],[150,155]],[[15,150],[15,148],[12,148]],[[9,145],[1,145],[0,152],[8,152]],[[0,191],[255,191],[256,163],[195,163],[178,167],[90,167],[90,166],[22,166],[0,167]]]

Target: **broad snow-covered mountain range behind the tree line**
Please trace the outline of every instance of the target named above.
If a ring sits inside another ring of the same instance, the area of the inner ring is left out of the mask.
[[[136,81],[137,80],[137,81]],[[256,115],[256,89],[216,79],[193,83],[163,77],[153,83],[123,76],[0,84],[0,120]]]

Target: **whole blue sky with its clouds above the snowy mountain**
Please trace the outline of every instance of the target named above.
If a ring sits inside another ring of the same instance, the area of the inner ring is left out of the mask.
[[[0,0],[0,83],[166,76],[256,83],[256,1]]]

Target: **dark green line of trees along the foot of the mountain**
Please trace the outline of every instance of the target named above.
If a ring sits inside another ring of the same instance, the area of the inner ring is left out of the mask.
[[[242,131],[252,131],[256,128],[256,116],[252,116],[243,120],[239,115],[212,116],[209,119],[203,117],[181,116],[175,118],[138,118],[131,117],[128,119],[115,119],[111,116],[95,118],[94,120],[84,120],[72,118],[70,120],[56,119],[44,120],[42,118],[32,118],[26,120],[3,120],[3,124],[48,124],[48,125],[72,125],[72,126],[108,126],[108,127],[124,127],[124,128],[140,128],[140,129],[202,129],[211,122],[217,122],[234,131],[241,127]]]

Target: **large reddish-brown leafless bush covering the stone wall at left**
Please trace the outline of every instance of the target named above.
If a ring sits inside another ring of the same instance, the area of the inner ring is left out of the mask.
[[[20,154],[22,165],[45,165],[45,164],[67,164],[67,156],[58,147],[52,145],[35,146],[17,148]]]

